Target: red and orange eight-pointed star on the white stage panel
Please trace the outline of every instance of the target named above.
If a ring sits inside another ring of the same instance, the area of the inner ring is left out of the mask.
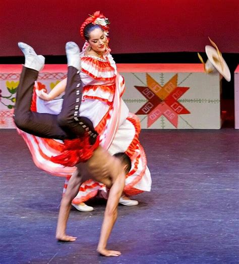
[[[163,115],[177,128],[178,115],[190,114],[184,105],[177,101],[189,87],[177,87],[177,74],[163,86],[149,74],[146,74],[146,80],[147,86],[135,86],[148,99],[136,115],[148,115],[147,127]]]

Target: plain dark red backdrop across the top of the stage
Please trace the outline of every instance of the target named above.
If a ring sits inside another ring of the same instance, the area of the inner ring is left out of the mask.
[[[1,0],[0,57],[21,55],[18,41],[64,55],[67,41],[83,45],[79,26],[97,10],[111,22],[114,54],[204,51],[208,36],[239,52],[238,0]]]

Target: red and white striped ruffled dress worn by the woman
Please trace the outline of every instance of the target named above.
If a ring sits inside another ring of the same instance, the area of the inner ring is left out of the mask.
[[[126,176],[125,193],[135,195],[150,191],[151,176],[144,149],[139,142],[140,121],[136,115],[129,113],[128,107],[121,98],[125,81],[117,74],[112,56],[107,53],[104,58],[84,56],[84,52],[81,53],[80,76],[84,88],[79,109],[80,116],[92,121],[100,135],[100,145],[110,154],[126,152],[130,156],[132,169]],[[33,108],[39,113],[61,112],[63,99],[44,101],[35,96],[34,101]],[[55,176],[67,177],[65,192],[76,167],[64,167],[50,161],[51,156],[62,153],[63,141],[36,137],[21,130],[18,132],[27,143],[38,168]],[[88,180],[81,185],[73,202],[86,201],[94,197],[98,191],[102,191],[102,194],[107,193],[103,184]]]

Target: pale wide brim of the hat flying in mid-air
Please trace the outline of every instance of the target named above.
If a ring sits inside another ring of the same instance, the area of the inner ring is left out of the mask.
[[[206,51],[207,58],[210,61],[210,63],[229,82],[231,80],[231,74],[230,74],[230,70],[229,70],[226,62],[224,61],[224,59],[222,58],[222,62],[223,62],[223,69],[222,69],[221,65],[219,63],[216,63],[213,60],[213,57],[218,58],[218,54],[217,54],[216,49],[214,47],[207,45],[207,46],[205,46],[205,51]]]

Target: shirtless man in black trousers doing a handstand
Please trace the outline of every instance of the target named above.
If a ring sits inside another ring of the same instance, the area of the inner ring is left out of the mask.
[[[70,214],[71,202],[76,196],[80,185],[93,178],[110,188],[106,204],[104,220],[101,228],[97,251],[105,256],[118,256],[119,251],[107,250],[106,244],[117,218],[117,204],[125,185],[125,174],[131,169],[131,161],[125,153],[111,156],[99,146],[97,132],[91,121],[77,115],[79,96],[82,92],[80,70],[80,50],[76,43],[68,42],[66,53],[68,59],[68,80],[63,109],[59,115],[40,114],[31,112],[31,98],[34,81],[38,72],[44,66],[44,57],[37,56],[29,45],[19,42],[19,47],[25,55],[25,65],[17,89],[17,101],[14,120],[17,127],[36,136],[55,139],[79,140],[89,137],[91,155],[85,163],[78,163],[77,170],[72,175],[67,191],[62,198],[56,228],[56,239],[75,241],[76,237],[66,235],[67,221]],[[77,122],[76,122],[77,121]],[[65,162],[66,160],[64,160]],[[79,157],[81,161],[81,157]]]

